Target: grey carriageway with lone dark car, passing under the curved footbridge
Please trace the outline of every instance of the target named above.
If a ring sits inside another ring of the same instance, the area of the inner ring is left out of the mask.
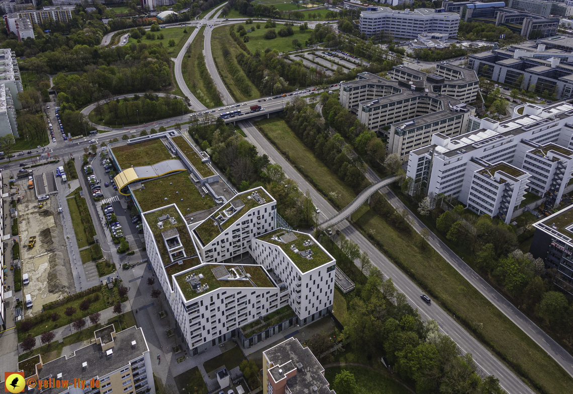
[[[333,208],[329,202],[317,192],[308,182],[298,173],[283,157],[274,149],[274,147],[258,132],[252,123],[243,121],[239,123],[242,130],[252,140],[256,141],[256,145],[260,147],[259,153],[262,152],[269,155],[271,161],[278,163],[282,166],[287,177],[296,181],[299,184],[299,189],[309,190],[311,193],[312,201],[317,208],[321,211],[321,219],[331,217],[336,214],[337,210]],[[320,219],[319,219],[320,220]],[[525,384],[519,377],[517,377],[503,362],[497,359],[488,349],[484,348],[475,338],[473,338],[468,331],[458,324],[446,311],[441,309],[436,303],[427,305],[421,301],[420,294],[422,290],[414,284],[410,278],[399,270],[393,263],[390,262],[378,249],[374,247],[360,232],[358,232],[348,221],[344,221],[337,225],[348,238],[355,241],[361,251],[368,252],[372,263],[374,263],[380,271],[383,272],[386,278],[392,278],[397,289],[406,295],[410,305],[417,308],[419,313],[425,319],[435,319],[439,323],[439,327],[443,333],[447,334],[454,340],[462,352],[472,353],[476,364],[488,375],[494,375],[500,380],[500,385],[508,393],[533,393],[533,391]]]

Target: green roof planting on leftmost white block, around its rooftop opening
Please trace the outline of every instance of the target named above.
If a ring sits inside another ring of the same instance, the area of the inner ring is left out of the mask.
[[[169,220],[163,221],[163,228],[159,228],[157,224],[159,223],[159,217],[168,214],[170,217],[174,217],[176,220],[175,224],[171,224]],[[187,222],[183,220],[179,213],[175,209],[174,206],[168,206],[167,208],[156,210],[155,212],[147,213],[145,215],[145,219],[151,228],[151,232],[155,237],[155,244],[159,249],[159,255],[163,260],[163,265],[167,266],[171,264],[171,258],[169,257],[169,253],[167,252],[167,247],[163,241],[163,237],[161,233],[167,231],[172,228],[176,228],[179,232],[179,239],[181,240],[181,244],[185,249],[185,254],[189,256],[194,256],[197,254],[197,250],[195,249],[195,245],[193,245],[193,241],[191,241],[191,236],[187,231]]]

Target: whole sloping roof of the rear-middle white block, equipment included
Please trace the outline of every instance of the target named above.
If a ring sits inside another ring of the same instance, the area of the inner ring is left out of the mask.
[[[210,243],[215,239],[215,237],[234,224],[246,212],[249,212],[249,210],[260,206],[261,204],[265,204],[266,202],[274,201],[274,199],[266,194],[262,188],[258,188],[254,190],[254,192],[258,194],[260,200],[257,201],[257,198],[252,197],[253,190],[237,194],[237,196],[231,198],[231,201],[227,202],[227,204],[223,205],[197,228],[195,228],[195,233],[197,233],[197,236],[203,245]]]

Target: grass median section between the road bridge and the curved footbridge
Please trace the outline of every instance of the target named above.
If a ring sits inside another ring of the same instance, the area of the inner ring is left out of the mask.
[[[310,149],[295,135],[286,122],[280,118],[263,119],[255,123],[281,153],[303,173],[323,194],[340,194],[333,202],[339,207],[348,205],[356,194],[343,181],[335,177],[330,169],[315,157]],[[304,191],[304,190],[303,190]]]

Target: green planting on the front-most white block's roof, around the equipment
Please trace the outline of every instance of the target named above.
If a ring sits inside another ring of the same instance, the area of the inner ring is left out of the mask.
[[[274,287],[273,284],[270,282],[270,280],[266,277],[266,275],[265,275],[265,273],[261,267],[253,267],[252,266],[252,271],[248,272],[251,275],[250,281],[249,280],[218,280],[217,278],[215,278],[215,275],[213,274],[213,271],[211,271],[211,270],[213,268],[219,267],[221,265],[223,265],[223,264],[202,264],[201,266],[198,266],[197,268],[195,268],[193,271],[186,272],[185,274],[175,276],[175,279],[177,280],[177,283],[179,284],[179,287],[181,288],[181,291],[183,292],[185,299],[186,300],[193,299],[193,298],[197,297],[199,294],[205,294],[205,292],[210,292],[210,291],[216,290],[217,288],[220,288],[220,287],[253,287],[253,283],[256,287]],[[231,264],[227,267],[228,267],[227,269],[229,269],[229,268],[233,268],[233,267],[237,267],[237,266]],[[260,273],[257,273],[255,271],[257,269],[260,271]],[[191,274],[195,274],[197,276],[199,274],[203,274],[204,278],[200,280],[201,286],[203,286],[203,284],[207,283],[209,285],[209,288],[206,291],[202,291],[200,293],[198,293],[197,291],[194,291],[191,288],[191,285],[189,283],[187,283],[185,280],[187,275],[191,275]],[[261,279],[262,278],[261,275],[264,276],[264,279]]]

